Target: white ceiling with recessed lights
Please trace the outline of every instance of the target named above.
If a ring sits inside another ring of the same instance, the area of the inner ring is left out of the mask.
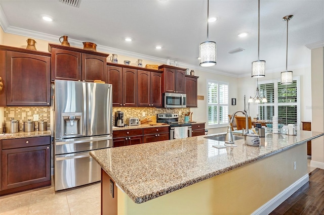
[[[0,24],[5,32],[38,35],[47,40],[68,35],[71,45],[96,43],[97,50],[140,56],[180,67],[198,68],[198,45],[207,40],[207,0],[82,0],[79,8],[58,0],[0,0]],[[1,11],[3,10],[3,13]],[[46,14],[51,23],[41,19]],[[209,40],[217,43],[217,65],[207,71],[244,76],[258,60],[258,1],[210,0]],[[261,0],[260,60],[266,71],[285,71],[287,22],[289,21],[288,70],[309,66],[309,49],[324,44],[324,0]],[[248,32],[247,37],[238,37]],[[42,36],[40,36],[42,35]],[[126,42],[126,36],[132,42]],[[311,44],[311,45],[309,45]],[[162,45],[162,49],[155,49]],[[229,50],[244,51],[230,54]],[[153,57],[153,58],[152,58]],[[145,64],[145,62],[144,62]]]

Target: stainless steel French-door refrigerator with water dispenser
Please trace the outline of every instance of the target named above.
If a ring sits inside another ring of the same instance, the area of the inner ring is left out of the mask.
[[[89,151],[112,147],[112,85],[55,80],[54,86],[55,190],[100,181]]]

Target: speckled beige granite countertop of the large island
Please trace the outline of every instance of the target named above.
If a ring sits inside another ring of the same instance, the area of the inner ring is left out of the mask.
[[[217,134],[219,136],[219,134]],[[215,134],[91,151],[101,168],[136,203],[168,194],[269,155],[289,149],[321,132],[297,135],[266,133],[260,146],[244,139],[237,147],[215,148],[222,141],[204,138]]]

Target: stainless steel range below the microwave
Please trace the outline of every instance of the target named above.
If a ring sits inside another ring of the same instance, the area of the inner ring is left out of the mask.
[[[170,125],[170,140],[174,139],[176,127],[188,127],[188,137],[191,137],[191,123],[179,122],[178,114],[157,114],[156,122]]]

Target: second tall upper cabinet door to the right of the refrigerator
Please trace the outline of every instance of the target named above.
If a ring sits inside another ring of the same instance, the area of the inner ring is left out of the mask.
[[[123,68],[123,106],[137,106],[137,70]]]

